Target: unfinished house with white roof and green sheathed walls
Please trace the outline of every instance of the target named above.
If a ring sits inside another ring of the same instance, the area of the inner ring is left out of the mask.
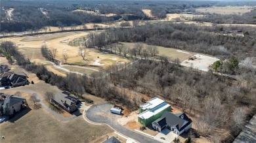
[[[160,118],[163,112],[170,110],[170,104],[165,103],[165,101],[158,97],[154,97],[145,104],[140,105],[138,121],[144,126],[150,125],[153,121]]]

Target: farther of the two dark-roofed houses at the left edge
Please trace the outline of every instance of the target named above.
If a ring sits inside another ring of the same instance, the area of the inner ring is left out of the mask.
[[[23,86],[28,84],[27,78],[24,72],[3,72],[0,74],[0,86]]]

